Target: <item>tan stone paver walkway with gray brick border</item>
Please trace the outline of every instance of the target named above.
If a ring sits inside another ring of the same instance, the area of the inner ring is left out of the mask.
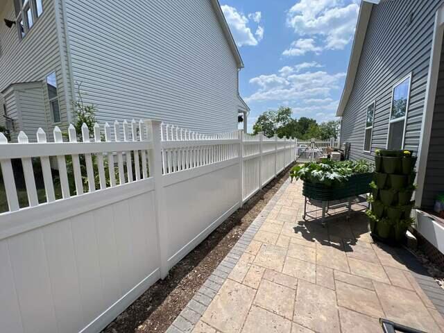
[[[301,186],[282,186],[168,333],[382,332],[379,317],[444,332],[442,290],[415,259],[374,244],[364,214],[303,221]]]

